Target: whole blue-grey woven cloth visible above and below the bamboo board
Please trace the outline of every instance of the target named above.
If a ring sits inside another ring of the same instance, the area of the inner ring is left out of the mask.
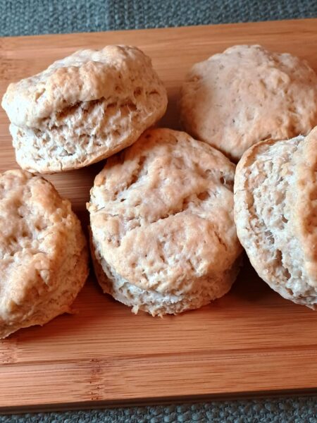
[[[317,0],[0,0],[0,35],[313,18]],[[149,387],[150,389],[150,387]],[[316,423],[317,397],[0,417],[19,423]]]

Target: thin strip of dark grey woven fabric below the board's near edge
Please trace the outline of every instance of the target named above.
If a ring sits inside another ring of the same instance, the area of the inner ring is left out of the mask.
[[[244,400],[195,405],[4,416],[2,423],[316,423],[315,398]]]

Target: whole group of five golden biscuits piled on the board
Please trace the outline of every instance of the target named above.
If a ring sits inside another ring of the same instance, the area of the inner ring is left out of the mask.
[[[186,132],[158,128],[168,97],[136,47],[82,50],[8,86],[21,170],[0,176],[0,338],[69,312],[88,274],[132,312],[197,309],[228,293],[247,252],[280,295],[317,303],[317,75],[235,46],[195,64]],[[39,173],[106,159],[87,209]],[[237,163],[237,168],[235,163]]]

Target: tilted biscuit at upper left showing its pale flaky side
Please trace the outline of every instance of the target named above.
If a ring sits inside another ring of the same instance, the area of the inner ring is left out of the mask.
[[[131,145],[163,116],[166,89],[136,47],[82,50],[8,86],[2,101],[18,164],[54,173]]]

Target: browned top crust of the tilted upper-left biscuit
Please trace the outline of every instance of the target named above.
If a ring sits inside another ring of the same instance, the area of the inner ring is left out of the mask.
[[[80,50],[35,76],[11,83],[2,106],[11,123],[37,128],[43,119],[78,102],[117,97],[138,78],[148,80],[166,96],[151,59],[137,47]]]

